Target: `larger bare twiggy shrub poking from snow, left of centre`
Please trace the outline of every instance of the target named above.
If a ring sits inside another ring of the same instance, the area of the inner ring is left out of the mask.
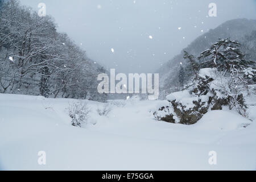
[[[72,125],[81,127],[82,123],[86,123],[90,111],[91,110],[86,102],[73,102],[72,104],[69,104],[68,113],[69,117],[72,118]]]

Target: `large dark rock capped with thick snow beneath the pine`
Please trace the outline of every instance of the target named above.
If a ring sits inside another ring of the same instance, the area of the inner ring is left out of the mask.
[[[220,74],[216,68],[200,69],[199,77],[188,82],[186,89],[166,97],[170,105],[160,107],[155,111],[154,117],[159,121],[192,125],[208,111],[222,110],[224,106],[230,106],[233,100],[226,94],[229,89],[228,79]],[[227,88],[224,89],[225,87]],[[234,99],[235,109],[239,108],[238,112],[245,115],[243,95],[240,94]]]

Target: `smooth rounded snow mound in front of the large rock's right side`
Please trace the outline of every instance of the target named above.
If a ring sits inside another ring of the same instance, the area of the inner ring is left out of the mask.
[[[202,130],[236,130],[250,125],[250,120],[233,111],[208,111],[194,126]]]

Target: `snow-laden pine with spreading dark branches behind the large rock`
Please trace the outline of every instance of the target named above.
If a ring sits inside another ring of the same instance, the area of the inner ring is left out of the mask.
[[[245,114],[246,105],[242,93],[250,80],[253,80],[256,70],[253,69],[255,61],[246,60],[240,46],[238,41],[221,39],[202,52],[198,59],[201,68],[217,69],[216,89],[225,94],[229,108]]]

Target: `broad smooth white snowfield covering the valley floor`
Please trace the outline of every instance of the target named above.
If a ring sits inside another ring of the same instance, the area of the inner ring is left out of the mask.
[[[66,110],[76,100],[0,94],[0,169],[255,170],[254,99],[254,122],[222,110],[191,126],[154,119],[152,111],[167,101],[123,101],[108,117],[97,114],[101,103],[88,101],[89,122],[97,123],[79,128]],[[39,151],[46,152],[46,165],[38,164]],[[208,162],[210,151],[216,165]]]

